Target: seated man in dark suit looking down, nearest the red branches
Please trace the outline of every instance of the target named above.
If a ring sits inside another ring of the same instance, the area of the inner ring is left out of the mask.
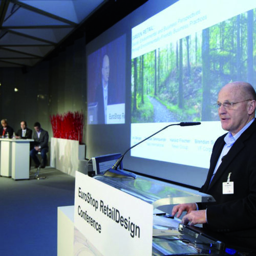
[[[49,135],[47,131],[41,128],[41,125],[39,122],[35,122],[34,130],[35,131],[33,131],[33,134],[32,134],[32,139],[34,140],[34,148],[32,148],[32,150],[30,151],[30,156],[34,160],[36,168],[38,168],[39,166],[41,168],[45,168],[47,164],[47,152],[49,151],[49,147],[48,147]],[[42,164],[40,164],[40,161],[36,156],[39,152],[42,157]]]

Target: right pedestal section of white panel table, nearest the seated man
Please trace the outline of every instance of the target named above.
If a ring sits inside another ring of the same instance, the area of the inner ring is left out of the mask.
[[[12,140],[12,178],[29,179],[29,151],[32,139]]]

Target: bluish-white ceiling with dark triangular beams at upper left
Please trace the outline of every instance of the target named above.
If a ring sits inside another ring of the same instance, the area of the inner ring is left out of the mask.
[[[0,67],[32,67],[107,0],[0,0]]]

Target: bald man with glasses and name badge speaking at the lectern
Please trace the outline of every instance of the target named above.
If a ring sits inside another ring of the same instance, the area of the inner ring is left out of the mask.
[[[228,133],[215,142],[200,189],[216,202],[179,204],[172,215],[178,212],[179,218],[186,211],[183,224],[203,224],[227,244],[256,251],[255,90],[247,82],[228,83],[219,92],[217,107]]]

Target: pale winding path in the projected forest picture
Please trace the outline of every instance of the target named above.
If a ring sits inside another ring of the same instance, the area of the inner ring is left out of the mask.
[[[175,122],[175,115],[166,108],[164,104],[159,102],[157,99],[148,96],[147,98],[150,100],[151,104],[154,107],[154,122]]]

